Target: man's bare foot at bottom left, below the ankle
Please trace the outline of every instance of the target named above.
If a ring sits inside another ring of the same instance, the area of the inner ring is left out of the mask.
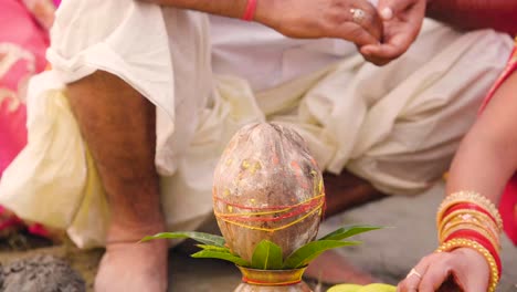
[[[138,229],[131,231],[134,230]],[[126,232],[113,232],[112,228],[110,237],[108,237],[110,243],[106,246],[106,253],[101,260],[95,278],[96,292],[167,291],[168,241],[154,240],[138,243],[138,240],[144,236],[156,232],[131,231],[129,232],[133,236],[129,237]],[[124,238],[125,240],[117,241],[115,238]],[[128,240],[127,238],[134,239]]]

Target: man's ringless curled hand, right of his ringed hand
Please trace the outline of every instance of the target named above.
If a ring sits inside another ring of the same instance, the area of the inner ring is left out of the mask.
[[[377,65],[401,56],[419,35],[426,1],[380,0],[378,10],[384,24],[382,43],[361,46],[361,54]]]

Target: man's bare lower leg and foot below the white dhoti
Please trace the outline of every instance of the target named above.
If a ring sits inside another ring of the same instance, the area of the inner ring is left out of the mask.
[[[155,106],[106,72],[67,90],[112,212],[95,291],[166,291],[167,242],[136,243],[165,228],[155,169]]]

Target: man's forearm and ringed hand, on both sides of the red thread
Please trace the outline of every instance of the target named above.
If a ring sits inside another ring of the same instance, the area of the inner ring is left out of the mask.
[[[241,18],[246,0],[141,0],[161,6]],[[296,39],[333,38],[377,48],[382,20],[367,0],[258,0],[254,21]],[[369,56],[365,58],[367,60]]]

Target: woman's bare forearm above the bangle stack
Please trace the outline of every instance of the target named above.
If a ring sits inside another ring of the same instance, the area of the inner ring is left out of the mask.
[[[451,167],[447,194],[472,190],[498,202],[517,169],[517,72],[495,93],[463,139]]]

